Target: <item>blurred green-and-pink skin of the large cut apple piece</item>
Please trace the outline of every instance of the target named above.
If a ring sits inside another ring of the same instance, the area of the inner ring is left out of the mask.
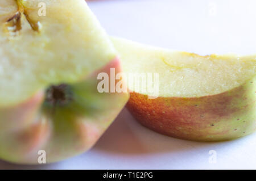
[[[61,161],[92,148],[129,99],[128,93],[99,93],[98,73],[121,71],[118,58],[103,69],[71,84],[74,101],[68,106],[44,106],[45,89],[26,102],[0,108],[0,158],[38,164],[39,150],[46,162]],[[76,98],[77,97],[77,98]]]

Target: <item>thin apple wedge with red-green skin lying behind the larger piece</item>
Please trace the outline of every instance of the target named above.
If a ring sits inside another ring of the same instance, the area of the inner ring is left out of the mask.
[[[142,81],[137,86],[127,81],[127,107],[145,127],[196,141],[230,140],[255,131],[256,55],[199,56],[114,37],[112,41],[125,73],[159,74],[153,79],[159,88],[156,99],[139,89]]]

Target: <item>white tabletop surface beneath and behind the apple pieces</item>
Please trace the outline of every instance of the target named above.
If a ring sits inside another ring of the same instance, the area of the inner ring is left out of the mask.
[[[110,35],[200,54],[256,53],[256,2],[105,0],[89,6]],[[210,164],[209,150],[217,163]],[[238,140],[178,140],[142,127],[123,110],[90,151],[66,161],[0,169],[256,169],[256,133]]]

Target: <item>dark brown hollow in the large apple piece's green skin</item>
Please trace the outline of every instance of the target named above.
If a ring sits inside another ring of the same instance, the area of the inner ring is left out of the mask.
[[[46,90],[45,102],[50,106],[65,106],[73,99],[71,86],[67,84],[52,85]]]

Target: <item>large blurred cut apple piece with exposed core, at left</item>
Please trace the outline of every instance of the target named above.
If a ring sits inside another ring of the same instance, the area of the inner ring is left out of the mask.
[[[45,8],[45,9],[44,9]],[[129,95],[97,91],[97,74],[121,71],[84,0],[0,2],[0,158],[46,162],[88,150]]]

